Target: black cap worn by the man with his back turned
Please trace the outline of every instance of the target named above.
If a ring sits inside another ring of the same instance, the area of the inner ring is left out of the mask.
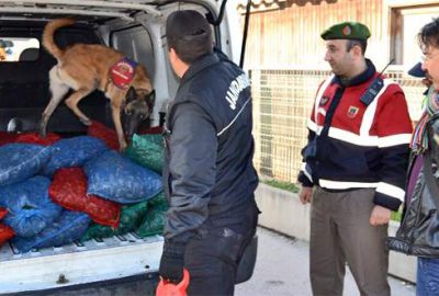
[[[166,21],[168,44],[178,39],[205,38],[212,35],[207,20],[198,11],[179,10],[169,14]]]

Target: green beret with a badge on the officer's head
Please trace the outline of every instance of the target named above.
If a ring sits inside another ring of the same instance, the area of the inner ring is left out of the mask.
[[[320,34],[325,41],[330,39],[367,39],[370,37],[369,29],[362,23],[342,22],[335,24]]]

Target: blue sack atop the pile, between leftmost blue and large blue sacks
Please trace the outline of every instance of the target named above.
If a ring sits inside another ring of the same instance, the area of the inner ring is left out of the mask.
[[[87,160],[109,150],[103,140],[90,136],[60,139],[52,147],[57,152],[43,168],[43,174],[48,177],[61,168],[82,167]]]

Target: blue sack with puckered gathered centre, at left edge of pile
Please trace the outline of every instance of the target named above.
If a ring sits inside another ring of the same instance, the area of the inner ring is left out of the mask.
[[[0,187],[0,206],[8,208],[3,223],[16,236],[35,236],[59,217],[63,208],[49,198],[49,179],[37,175]]]

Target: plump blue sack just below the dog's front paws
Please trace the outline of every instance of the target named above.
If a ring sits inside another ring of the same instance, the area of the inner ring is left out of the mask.
[[[138,203],[161,191],[161,177],[116,151],[108,151],[83,166],[88,194],[121,204]]]

